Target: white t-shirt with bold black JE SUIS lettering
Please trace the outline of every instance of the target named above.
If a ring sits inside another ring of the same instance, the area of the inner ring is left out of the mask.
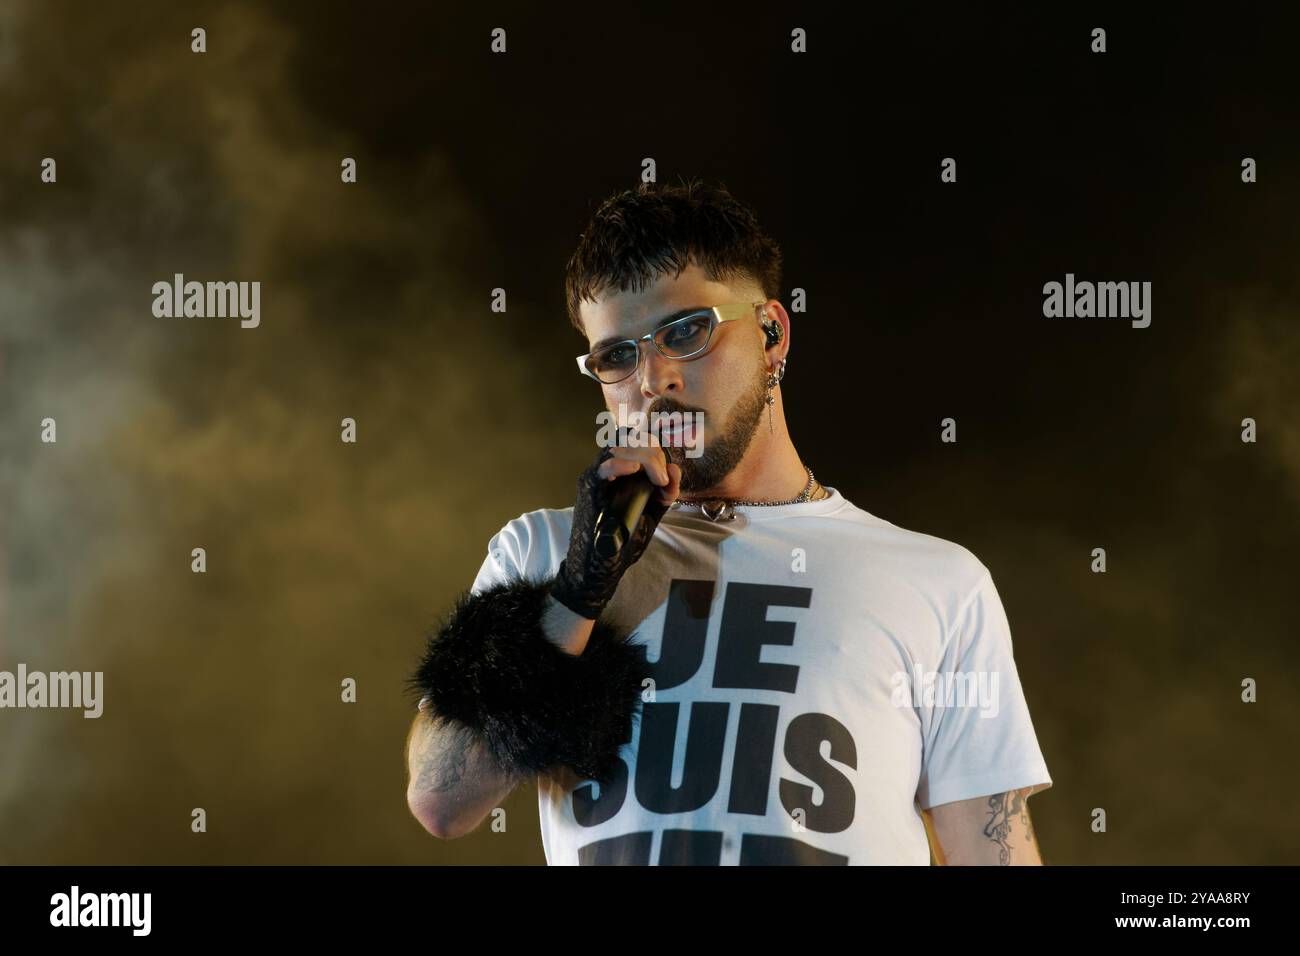
[[[537,778],[549,865],[928,865],[920,809],[1052,786],[988,568],[827,490],[664,515],[602,617],[653,700],[607,792]],[[572,516],[507,523],[472,591],[554,575]]]

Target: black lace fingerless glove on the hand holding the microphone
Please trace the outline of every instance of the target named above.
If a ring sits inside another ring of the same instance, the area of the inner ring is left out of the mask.
[[[614,598],[614,592],[623,580],[624,572],[645,553],[654,537],[659,519],[668,510],[659,494],[663,485],[655,485],[650,501],[646,502],[636,533],[619,549],[612,558],[602,558],[595,553],[595,519],[614,497],[612,481],[597,475],[601,463],[614,457],[611,449],[602,449],[586,471],[577,480],[577,501],[573,503],[573,529],[569,532],[568,555],[555,572],[551,597],[589,620],[601,617],[601,611]]]

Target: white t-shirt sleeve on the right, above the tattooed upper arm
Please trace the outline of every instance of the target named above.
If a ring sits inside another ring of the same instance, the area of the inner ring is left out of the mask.
[[[1052,786],[1011,657],[1011,630],[988,568],[961,606],[935,678],[920,809]]]

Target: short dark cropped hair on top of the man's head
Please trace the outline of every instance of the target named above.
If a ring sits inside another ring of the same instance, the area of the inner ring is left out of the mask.
[[[766,298],[780,297],[781,250],[759,228],[754,211],[722,183],[642,182],[610,196],[564,269],[569,321],[585,336],[582,302],[595,302],[606,289],[641,291],[658,276],[680,276],[692,263],[712,282],[751,278]]]

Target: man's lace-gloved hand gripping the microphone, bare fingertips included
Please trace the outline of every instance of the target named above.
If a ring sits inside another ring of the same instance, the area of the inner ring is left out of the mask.
[[[577,481],[568,554],[551,596],[590,620],[614,598],[681,486],[681,468],[653,433],[644,434],[649,445],[602,449]]]

